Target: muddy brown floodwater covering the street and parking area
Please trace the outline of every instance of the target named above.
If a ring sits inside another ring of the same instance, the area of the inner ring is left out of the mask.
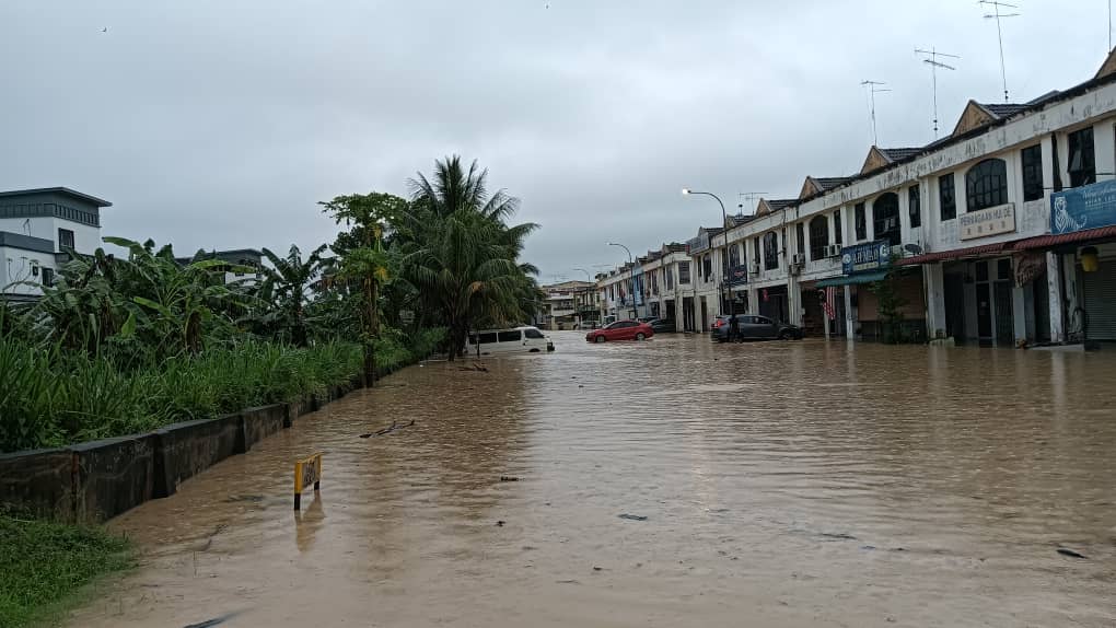
[[[142,566],[71,625],[1116,625],[1116,354],[555,337],[117,518]]]

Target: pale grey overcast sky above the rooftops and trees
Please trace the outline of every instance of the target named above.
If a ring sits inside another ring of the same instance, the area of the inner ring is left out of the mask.
[[[1010,0],[1009,0],[1010,1]],[[1091,78],[1106,0],[1014,0],[1013,102]],[[406,193],[458,153],[541,223],[540,280],[577,279],[714,225],[718,193],[796,196],[872,143],[933,139],[1002,99],[972,0],[0,0],[0,190],[113,202],[103,233],[198,248],[333,240],[317,201]],[[107,28],[107,32],[103,29]],[[750,206],[748,207],[750,211]]]

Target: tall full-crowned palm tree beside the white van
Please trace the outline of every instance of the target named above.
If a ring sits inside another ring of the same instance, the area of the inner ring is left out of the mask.
[[[413,213],[403,267],[412,283],[439,308],[450,332],[450,359],[461,355],[472,326],[522,320],[520,296],[536,269],[520,264],[523,240],[535,223],[506,224],[519,200],[487,189],[488,171],[468,171],[451,156],[410,182]]]

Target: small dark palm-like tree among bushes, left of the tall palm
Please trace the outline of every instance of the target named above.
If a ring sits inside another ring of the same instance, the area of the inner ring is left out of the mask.
[[[257,291],[257,297],[270,307],[262,320],[269,327],[289,334],[291,344],[298,347],[307,344],[306,303],[309,292],[321,272],[334,262],[329,258],[323,259],[326,248],[326,244],[318,247],[305,260],[295,244],[290,245],[286,258],[262,249],[263,257],[271,263],[271,268],[262,269],[263,281]]]

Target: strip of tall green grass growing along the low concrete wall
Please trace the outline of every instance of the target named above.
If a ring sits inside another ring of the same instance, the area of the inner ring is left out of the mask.
[[[444,330],[393,335],[379,368],[430,355]],[[122,366],[119,363],[126,363]],[[262,340],[162,361],[67,354],[0,335],[0,452],[62,446],[323,393],[360,374],[353,342],[294,348]]]

